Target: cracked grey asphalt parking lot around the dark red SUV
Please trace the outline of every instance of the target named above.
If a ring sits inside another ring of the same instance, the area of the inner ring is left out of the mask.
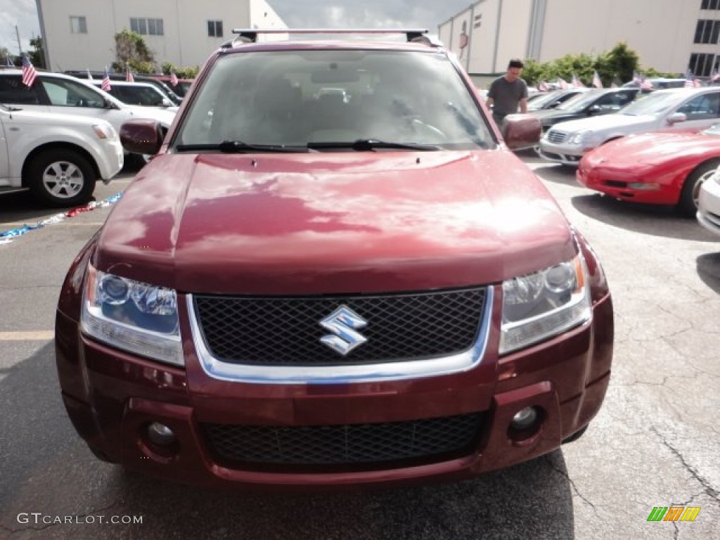
[[[66,269],[110,210],[99,207],[0,245],[0,539],[720,538],[720,237],[521,158],[590,240],[613,292],[613,375],[585,436],[476,480],[375,492],[209,492],[98,462],[60,401],[53,320]],[[0,197],[0,232],[57,213]],[[648,521],[671,506],[700,510]]]

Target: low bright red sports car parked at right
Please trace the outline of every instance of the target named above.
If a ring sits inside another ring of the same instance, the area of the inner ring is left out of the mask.
[[[653,132],[613,140],[585,154],[577,181],[617,199],[675,204],[694,216],[700,186],[720,163],[720,124],[699,132]]]

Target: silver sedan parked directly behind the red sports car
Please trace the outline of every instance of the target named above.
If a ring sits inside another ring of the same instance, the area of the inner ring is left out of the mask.
[[[720,87],[658,90],[614,114],[554,125],[541,138],[538,153],[577,166],[585,153],[609,140],[657,130],[701,130],[718,120]]]

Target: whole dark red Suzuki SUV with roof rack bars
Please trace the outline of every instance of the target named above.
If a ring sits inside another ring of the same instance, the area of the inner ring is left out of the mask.
[[[102,459],[206,486],[471,477],[557,449],[608,387],[582,236],[453,55],[254,42],[204,66],[58,303],[63,400]],[[508,143],[506,144],[505,141]]]

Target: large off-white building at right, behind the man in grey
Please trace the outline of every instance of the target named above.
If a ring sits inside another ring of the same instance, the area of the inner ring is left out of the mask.
[[[719,68],[720,0],[480,0],[438,27],[476,76],[511,58],[598,55],[626,42],[643,68],[709,76]]]

